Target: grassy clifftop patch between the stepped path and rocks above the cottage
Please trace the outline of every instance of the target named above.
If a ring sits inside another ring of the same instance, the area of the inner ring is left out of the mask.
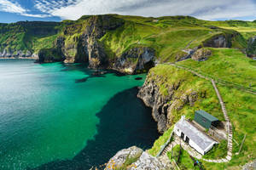
[[[194,106],[185,105],[181,111],[172,114],[172,120],[169,120],[172,123],[177,122],[182,115],[189,119],[194,119],[195,111],[199,110],[207,111],[212,116],[216,116],[218,120],[224,121],[224,116],[211,82],[171,65],[154,67],[149,71],[148,77],[157,81],[156,83],[162,95],[168,95],[168,88],[175,87],[177,84],[179,84],[179,88],[173,94],[176,98],[180,98],[183,94],[187,94],[192,90],[198,93],[199,99],[197,99]]]

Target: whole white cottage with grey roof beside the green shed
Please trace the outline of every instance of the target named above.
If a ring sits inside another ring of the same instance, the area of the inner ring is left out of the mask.
[[[202,133],[191,122],[188,122],[185,116],[182,116],[181,120],[175,124],[174,133],[201,153],[201,155],[205,155],[207,151],[212,149],[214,144],[218,144],[218,142],[208,137],[205,133]]]

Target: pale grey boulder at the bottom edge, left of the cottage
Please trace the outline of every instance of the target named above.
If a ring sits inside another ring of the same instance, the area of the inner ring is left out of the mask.
[[[105,170],[113,169],[166,170],[170,169],[170,165],[163,163],[154,156],[150,156],[142,149],[133,146],[125,150],[120,150],[115,156],[113,156],[113,158],[110,159],[110,161],[108,161]]]

